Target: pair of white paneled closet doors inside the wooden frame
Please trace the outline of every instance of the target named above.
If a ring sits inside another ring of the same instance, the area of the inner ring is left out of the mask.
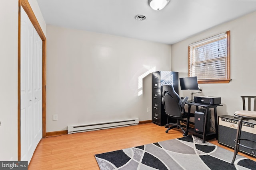
[[[21,8],[21,160],[28,164],[42,138],[42,40]]]

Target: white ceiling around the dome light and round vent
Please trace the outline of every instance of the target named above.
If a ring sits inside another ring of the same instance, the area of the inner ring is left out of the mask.
[[[160,11],[148,0],[37,1],[46,24],[166,44],[256,11],[256,0],[170,0]]]

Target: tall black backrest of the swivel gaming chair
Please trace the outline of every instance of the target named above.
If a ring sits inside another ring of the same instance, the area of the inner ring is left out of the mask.
[[[175,119],[182,119],[183,107],[180,104],[180,97],[172,85],[162,86],[162,103],[167,115]]]

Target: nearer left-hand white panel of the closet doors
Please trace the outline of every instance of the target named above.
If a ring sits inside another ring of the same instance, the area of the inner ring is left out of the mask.
[[[27,160],[32,149],[33,132],[33,25],[22,9],[20,58],[20,145],[21,160]]]

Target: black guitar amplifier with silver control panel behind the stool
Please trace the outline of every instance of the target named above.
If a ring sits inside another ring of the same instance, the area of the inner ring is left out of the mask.
[[[218,118],[219,118],[218,143],[234,149],[235,147],[234,139],[236,139],[236,131],[238,127],[239,118],[230,116],[230,115],[223,115],[223,116],[219,116]],[[251,139],[256,141],[256,121],[253,121],[253,120],[243,121],[241,138]],[[248,141],[240,141],[240,143],[248,147],[256,148],[256,143],[252,143]],[[239,147],[239,151],[244,152],[246,154],[250,154],[252,156],[256,156],[255,150]]]

